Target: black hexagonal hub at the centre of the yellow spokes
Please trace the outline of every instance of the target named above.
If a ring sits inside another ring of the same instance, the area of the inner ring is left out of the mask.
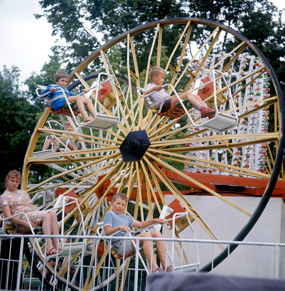
[[[129,132],[120,145],[124,162],[140,161],[149,146],[150,141],[145,130]]]

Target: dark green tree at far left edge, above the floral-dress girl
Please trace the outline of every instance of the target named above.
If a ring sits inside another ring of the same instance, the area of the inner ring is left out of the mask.
[[[26,149],[36,125],[33,106],[19,91],[19,69],[4,66],[0,72],[0,181],[13,169],[21,171]],[[5,190],[0,183],[1,193]]]

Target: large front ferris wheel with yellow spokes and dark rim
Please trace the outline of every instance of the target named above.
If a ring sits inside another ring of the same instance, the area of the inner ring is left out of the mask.
[[[173,50],[164,55],[163,45],[171,37],[174,28],[180,35]],[[206,36],[205,40],[195,43],[193,35],[201,31]],[[220,39],[225,34],[234,41],[229,48],[221,49]],[[151,37],[148,42],[152,44],[147,53],[136,45],[136,40],[146,35]],[[124,50],[124,54],[118,51],[118,46]],[[111,65],[111,55],[113,57],[116,53],[119,60],[122,55],[127,59],[126,76]],[[141,56],[147,58],[147,66],[143,68],[138,66]],[[236,114],[237,123],[219,132],[211,128],[210,123],[208,127],[203,126],[205,120],[201,120],[195,109],[188,111],[195,125],[185,114],[177,118],[157,114],[147,100],[137,93],[136,87],[145,87],[149,69],[155,65],[161,66],[165,57],[164,69],[168,72],[170,93],[172,88],[177,92],[194,90],[195,81],[199,80],[198,94],[209,107],[216,106],[221,115]],[[192,193],[200,191],[210,194],[248,217],[248,222],[235,230],[234,240],[242,240],[261,215],[276,181],[280,179],[284,153],[283,95],[263,54],[243,35],[223,24],[185,17],[138,26],[102,45],[70,73],[70,91],[79,92],[79,86],[90,88],[92,84],[101,82],[98,74],[85,74],[92,62],[101,63],[101,71],[112,75],[114,80],[114,84],[103,82],[105,85],[102,84],[102,87],[106,88],[105,93],[101,89],[101,97],[98,97],[98,92],[97,95],[92,93],[93,102],[97,98],[95,107],[102,115],[115,116],[115,106],[118,106],[120,122],[106,130],[96,126],[77,127],[73,118],[63,112],[59,115],[61,123],[53,124],[53,113],[46,108],[26,152],[22,188],[34,199],[42,197],[41,208],[54,205],[59,194],[70,196],[71,192],[75,193],[80,201],[83,220],[78,218],[76,208],[67,212],[64,222],[69,221],[70,226],[64,230],[65,234],[81,234],[84,229],[87,235],[96,235],[97,223],[110,209],[108,201],[116,192],[126,193],[129,198],[127,211],[134,219],[146,219],[145,209],[149,219],[153,218],[154,209],[160,213],[163,205],[168,205],[165,200],[167,193],[173,196],[172,200],[178,201],[189,213],[190,220],[199,225],[209,238],[218,239],[207,226],[207,221],[187,200],[187,195],[184,195],[187,191],[180,189],[180,185],[183,185]],[[273,87],[276,96],[270,95]],[[119,104],[115,102],[116,94]],[[76,119],[79,124],[80,116],[77,115]],[[67,130],[66,120],[72,123],[74,131]],[[54,139],[52,143],[56,138],[68,139],[70,146],[58,146],[55,152],[35,152],[35,145],[42,141],[43,135]],[[38,184],[29,184],[29,175],[33,173],[35,165],[50,167],[52,176],[42,178]],[[212,184],[222,184],[225,177],[231,184],[243,185],[246,185],[244,179],[250,178],[252,182],[249,187],[262,181],[266,190],[254,212],[249,212],[205,184],[207,180]],[[135,207],[129,206],[131,202],[135,203]],[[215,209],[211,211],[215,217],[218,215]],[[230,246],[230,252],[234,248]],[[220,246],[215,264],[222,261],[227,252]],[[90,275],[95,258],[91,251],[87,250],[84,254],[89,260],[90,270],[81,289],[97,290],[106,282],[99,278],[100,284],[93,285],[94,276],[100,276],[100,273]],[[67,261],[56,272],[58,280],[63,283],[68,281],[75,290],[78,289],[74,280],[80,269],[79,256],[80,253],[76,253],[71,258],[75,266],[74,277],[65,276]],[[205,265],[201,269],[208,268]],[[50,271],[54,272],[53,269]]]

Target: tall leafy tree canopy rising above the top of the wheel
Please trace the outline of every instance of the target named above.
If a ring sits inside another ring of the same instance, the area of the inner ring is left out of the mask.
[[[72,70],[86,56],[99,46],[98,33],[102,40],[108,41],[138,25],[169,17],[199,17],[222,22],[244,33],[266,52],[277,77],[284,85],[284,23],[281,12],[266,0],[223,0],[223,1],[178,1],[178,0],[40,0],[44,9],[37,18],[47,17],[53,27],[53,35],[66,41],[66,45],[56,45],[54,52],[60,52],[67,61],[67,69]],[[276,19],[276,20],[275,20]],[[211,28],[209,28],[209,32]],[[140,71],[146,68],[152,38],[152,31],[141,33],[140,42],[136,39],[136,54]],[[165,29],[167,43],[163,43],[168,51],[172,51],[180,35],[178,31]],[[203,42],[207,36],[205,31],[193,31],[196,42]],[[262,41],[259,41],[261,36]],[[230,40],[221,43],[221,49]],[[193,39],[192,39],[193,40]],[[163,39],[165,42],[165,37]],[[191,41],[191,40],[190,40]],[[116,48],[117,50],[120,47]],[[121,66],[126,66],[125,50],[122,50]],[[175,56],[173,58],[175,62]],[[175,65],[172,63],[172,65]],[[92,63],[90,71],[100,71],[100,63]]]

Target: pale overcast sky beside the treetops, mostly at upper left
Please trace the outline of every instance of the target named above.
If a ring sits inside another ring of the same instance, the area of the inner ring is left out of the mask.
[[[285,0],[272,2],[285,8]],[[42,13],[38,0],[0,0],[0,11],[0,71],[3,65],[15,65],[21,70],[20,81],[24,81],[32,72],[39,73],[49,60],[55,41],[51,25],[44,17],[35,19],[33,14]]]

